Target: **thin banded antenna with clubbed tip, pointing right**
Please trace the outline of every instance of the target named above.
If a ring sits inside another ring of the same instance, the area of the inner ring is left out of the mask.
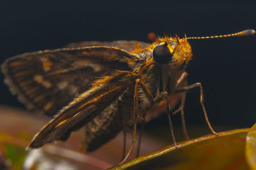
[[[202,39],[212,39],[212,38],[225,38],[225,37],[230,37],[230,36],[250,36],[254,35],[255,30],[254,29],[246,29],[244,31],[230,34],[230,35],[217,35],[217,36],[202,36],[202,37],[188,37],[186,38],[187,40],[202,40]]]

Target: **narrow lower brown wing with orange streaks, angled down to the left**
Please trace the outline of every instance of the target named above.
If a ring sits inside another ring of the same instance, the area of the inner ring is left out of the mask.
[[[113,81],[107,86],[102,85],[82,93],[35,135],[29,148],[40,148],[53,141],[66,141],[72,131],[95,118],[116,100],[126,87],[124,83]]]

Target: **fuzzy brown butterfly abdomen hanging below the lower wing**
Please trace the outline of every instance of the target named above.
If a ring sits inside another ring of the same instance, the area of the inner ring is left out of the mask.
[[[85,125],[83,144],[86,151],[97,150],[103,144],[108,143],[123,130],[129,120],[132,120],[133,97],[131,93],[133,93],[133,87],[127,88],[118,99]]]

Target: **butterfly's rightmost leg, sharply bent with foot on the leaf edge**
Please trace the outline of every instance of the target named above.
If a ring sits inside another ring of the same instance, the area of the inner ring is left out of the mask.
[[[191,85],[186,86],[186,87],[184,87],[184,88],[179,88],[179,89],[177,89],[177,90],[175,91],[175,93],[182,93],[182,92],[184,92],[184,91],[189,91],[189,90],[194,89],[194,88],[197,88],[197,87],[200,88],[200,104],[201,104],[202,109],[203,109],[203,111],[204,111],[204,116],[205,116],[205,120],[206,120],[206,122],[207,122],[207,125],[208,125],[208,127],[211,129],[212,134],[218,135],[218,133],[216,133],[216,132],[213,130],[212,125],[211,125],[211,123],[210,123],[210,121],[209,121],[209,118],[208,118],[208,116],[207,116],[207,112],[206,112],[206,110],[205,110],[205,106],[204,106],[204,91],[203,91],[203,87],[202,87],[201,82],[196,82],[195,84],[191,84]]]

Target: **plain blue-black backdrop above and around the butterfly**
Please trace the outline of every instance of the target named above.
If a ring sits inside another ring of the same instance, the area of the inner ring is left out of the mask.
[[[16,54],[56,49],[70,42],[139,40],[156,35],[212,36],[256,28],[256,2],[211,1],[0,1],[0,63]],[[256,36],[190,40],[189,84],[202,82],[212,125],[256,122]],[[83,77],[81,77],[83,79]],[[0,104],[24,107],[0,75]],[[189,125],[205,125],[200,92],[186,100]],[[175,124],[180,125],[179,116]],[[147,126],[168,125],[160,116]],[[206,128],[206,126],[205,126]]]

